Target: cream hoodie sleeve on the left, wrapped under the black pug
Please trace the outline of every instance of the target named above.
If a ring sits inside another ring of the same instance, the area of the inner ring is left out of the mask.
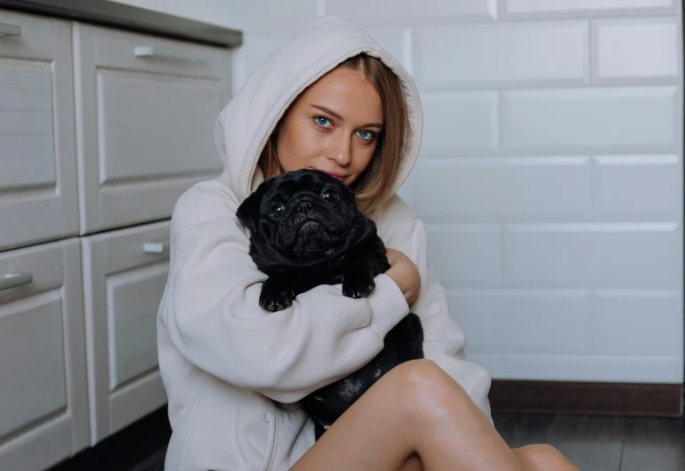
[[[366,299],[340,286],[304,292],[285,310],[259,306],[262,283],[229,198],[189,191],[172,218],[169,282],[161,322],[197,368],[281,403],[294,403],[358,370],[409,312],[387,275]]]

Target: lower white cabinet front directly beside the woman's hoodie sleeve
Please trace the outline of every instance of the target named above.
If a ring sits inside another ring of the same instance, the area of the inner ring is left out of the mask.
[[[166,403],[157,307],[169,228],[167,220],[82,239],[92,444]]]

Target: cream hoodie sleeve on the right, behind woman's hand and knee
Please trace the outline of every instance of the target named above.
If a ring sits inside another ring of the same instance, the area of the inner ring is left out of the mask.
[[[396,221],[386,245],[412,259],[421,274],[421,292],[411,311],[423,325],[423,353],[455,379],[471,396],[479,409],[492,421],[488,392],[490,375],[471,363],[464,351],[466,339],[462,328],[449,315],[447,292],[428,266],[426,231],[419,218]]]

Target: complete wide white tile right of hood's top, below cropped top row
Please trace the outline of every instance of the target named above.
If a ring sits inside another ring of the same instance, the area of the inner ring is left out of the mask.
[[[422,90],[584,84],[588,36],[584,21],[415,28],[415,79]]]

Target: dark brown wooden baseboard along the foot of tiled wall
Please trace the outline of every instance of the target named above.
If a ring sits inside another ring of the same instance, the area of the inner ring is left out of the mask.
[[[489,399],[501,413],[682,417],[683,385],[495,379]]]

